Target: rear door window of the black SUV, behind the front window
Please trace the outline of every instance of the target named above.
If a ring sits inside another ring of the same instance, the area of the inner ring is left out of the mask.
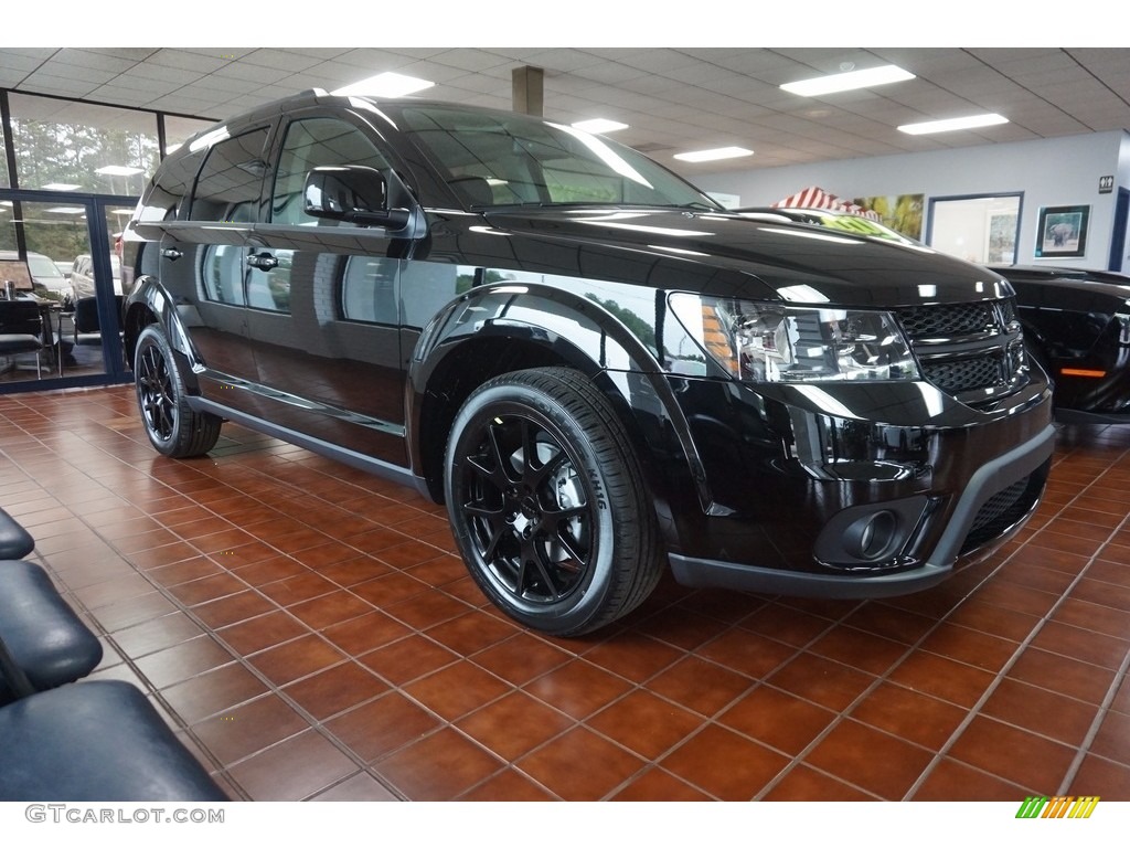
[[[192,220],[236,220],[236,210],[244,219],[259,204],[259,192],[267,173],[263,145],[267,129],[246,132],[214,145],[197,179],[192,199]]]

